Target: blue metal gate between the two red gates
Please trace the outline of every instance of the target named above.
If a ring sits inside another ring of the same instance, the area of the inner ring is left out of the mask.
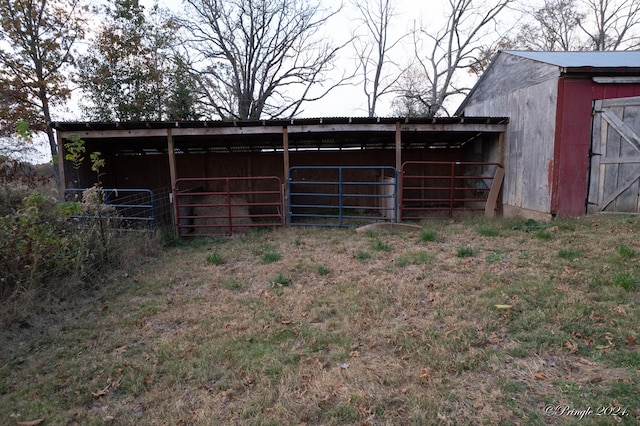
[[[397,171],[390,166],[289,169],[291,225],[356,226],[396,220]]]

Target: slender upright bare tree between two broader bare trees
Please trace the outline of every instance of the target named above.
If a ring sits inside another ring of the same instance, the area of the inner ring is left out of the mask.
[[[396,16],[392,0],[355,0],[353,5],[359,12],[356,22],[361,23],[367,32],[354,38],[353,45],[362,73],[367,113],[369,117],[375,117],[378,101],[395,90],[404,73],[397,63],[391,61],[389,54],[407,34],[389,37],[389,25]],[[393,71],[389,71],[389,67]]]

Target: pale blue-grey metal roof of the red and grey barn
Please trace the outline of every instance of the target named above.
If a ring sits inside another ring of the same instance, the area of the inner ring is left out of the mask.
[[[640,67],[640,51],[613,52],[530,52],[505,50],[505,53],[563,68],[574,67]]]

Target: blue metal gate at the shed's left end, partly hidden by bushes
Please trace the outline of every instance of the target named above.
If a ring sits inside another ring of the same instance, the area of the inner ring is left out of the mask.
[[[66,189],[65,201],[82,202],[84,189]],[[108,218],[115,220],[114,227],[122,230],[157,229],[156,201],[153,191],[144,188],[101,188],[101,203],[107,209],[96,209],[102,214],[76,214],[76,219]]]

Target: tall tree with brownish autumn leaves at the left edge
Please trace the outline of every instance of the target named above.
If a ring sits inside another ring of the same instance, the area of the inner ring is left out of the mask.
[[[2,133],[17,121],[29,122],[47,134],[53,158],[58,149],[52,109],[71,94],[67,71],[84,36],[85,12],[81,0],[0,0]]]

